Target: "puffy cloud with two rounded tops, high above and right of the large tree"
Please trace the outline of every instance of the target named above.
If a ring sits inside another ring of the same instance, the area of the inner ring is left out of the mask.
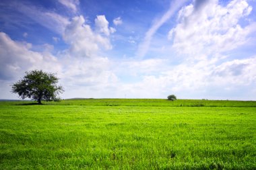
[[[111,29],[108,28],[108,21],[104,15],[97,16],[95,24],[96,30],[92,30],[82,15],[73,17],[63,34],[63,40],[70,45],[71,55],[90,57],[102,48],[105,50],[112,48],[109,38]]]

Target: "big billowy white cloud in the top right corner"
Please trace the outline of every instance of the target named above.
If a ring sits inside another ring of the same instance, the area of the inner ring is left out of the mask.
[[[251,10],[245,0],[230,1],[226,7],[217,0],[195,1],[179,11],[179,24],[170,30],[168,38],[177,52],[195,57],[232,50],[245,44],[256,31],[255,23],[239,24]]]

